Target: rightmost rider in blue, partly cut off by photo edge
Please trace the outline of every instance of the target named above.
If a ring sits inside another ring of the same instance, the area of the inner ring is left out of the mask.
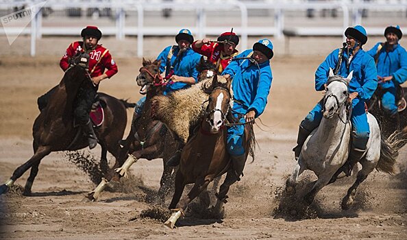
[[[379,86],[382,89],[382,107],[384,115],[391,121],[393,130],[399,130],[399,112],[397,111],[397,89],[407,80],[407,52],[399,45],[403,33],[399,25],[388,26],[384,30],[385,43],[377,43],[367,51],[375,59],[378,69]]]

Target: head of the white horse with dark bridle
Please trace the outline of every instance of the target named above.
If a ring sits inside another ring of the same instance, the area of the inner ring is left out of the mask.
[[[332,118],[335,114],[339,114],[342,107],[348,104],[349,93],[347,86],[352,78],[353,71],[344,78],[340,75],[334,75],[332,69],[326,83],[326,93],[323,98],[323,117],[326,119]]]

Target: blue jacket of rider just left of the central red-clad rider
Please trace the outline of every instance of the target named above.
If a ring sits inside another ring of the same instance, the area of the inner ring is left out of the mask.
[[[164,73],[167,67],[167,56],[169,51],[171,51],[173,46],[166,47],[160,55],[158,55],[157,60],[161,60],[160,72]],[[179,47],[175,47],[173,51],[173,56],[171,57],[171,66],[173,66],[174,75],[181,77],[193,77],[195,82],[198,82],[198,71],[196,66],[201,59],[201,55],[195,53],[193,49],[188,48],[180,57],[177,59]],[[182,88],[187,88],[189,85],[183,82],[175,82],[174,84],[167,85],[165,93],[170,93],[175,90]]]

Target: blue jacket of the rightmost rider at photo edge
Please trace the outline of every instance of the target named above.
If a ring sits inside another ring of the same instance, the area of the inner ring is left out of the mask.
[[[375,57],[378,52],[380,43],[377,43],[375,47],[367,51],[370,56]],[[383,46],[380,49],[378,56],[378,75],[380,77],[387,77],[393,75],[393,81],[382,82],[380,86],[382,88],[394,87],[396,84],[403,84],[407,80],[407,52],[404,47],[399,44],[395,45],[391,51],[386,51],[386,47]]]

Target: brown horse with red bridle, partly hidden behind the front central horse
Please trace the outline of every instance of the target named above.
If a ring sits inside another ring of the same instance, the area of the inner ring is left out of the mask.
[[[132,128],[129,135],[123,144],[123,154],[129,155],[129,158],[123,163],[122,166],[115,166],[116,179],[126,176],[130,166],[139,158],[146,158],[153,160],[162,158],[164,171],[160,180],[160,189],[158,196],[160,201],[164,202],[164,197],[173,189],[173,167],[167,166],[167,160],[173,156],[175,152],[175,142],[170,131],[167,131],[165,125],[158,121],[151,119],[151,98],[156,95],[162,95],[166,82],[160,76],[160,61],[146,61],[143,59],[143,67],[140,68],[140,74],[137,76],[136,81],[138,86],[141,87],[143,93],[147,93],[143,110],[139,117],[134,115],[136,119],[132,120]],[[89,193],[90,200],[97,200],[104,186],[109,182],[109,179],[103,179],[101,184]]]

